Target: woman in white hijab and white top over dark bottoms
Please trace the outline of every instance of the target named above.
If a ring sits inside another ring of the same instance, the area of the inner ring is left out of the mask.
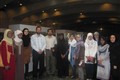
[[[85,40],[85,69],[87,80],[95,79],[96,75],[96,53],[97,42],[93,39],[93,34],[88,33]]]

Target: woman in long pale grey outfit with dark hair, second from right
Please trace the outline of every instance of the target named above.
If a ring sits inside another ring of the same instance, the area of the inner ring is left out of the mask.
[[[105,37],[100,38],[100,44],[97,52],[97,79],[109,80],[110,78],[110,58],[109,45]]]

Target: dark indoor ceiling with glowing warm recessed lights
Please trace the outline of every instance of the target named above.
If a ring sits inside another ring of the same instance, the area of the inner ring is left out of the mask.
[[[116,31],[120,26],[119,0],[1,0],[0,4],[1,10],[16,11],[11,24],[77,31]]]

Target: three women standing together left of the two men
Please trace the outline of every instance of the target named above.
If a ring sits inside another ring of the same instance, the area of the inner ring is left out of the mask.
[[[0,42],[0,80],[24,80],[24,65],[27,76],[30,55],[29,30],[6,29]]]

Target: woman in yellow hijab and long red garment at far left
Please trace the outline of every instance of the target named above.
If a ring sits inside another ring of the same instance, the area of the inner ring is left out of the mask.
[[[4,38],[1,41],[1,57],[3,63],[3,79],[15,80],[15,55],[13,48],[13,32],[10,29],[5,30]]]

